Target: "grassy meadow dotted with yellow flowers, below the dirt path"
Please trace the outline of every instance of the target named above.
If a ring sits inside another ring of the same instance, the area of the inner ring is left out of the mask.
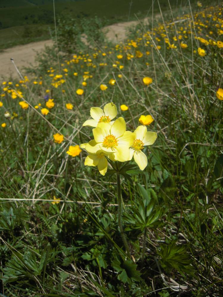
[[[222,6],[160,13],[1,81],[3,296],[222,296]]]

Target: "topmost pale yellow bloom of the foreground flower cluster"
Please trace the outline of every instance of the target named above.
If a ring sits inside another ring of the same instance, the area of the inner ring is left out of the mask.
[[[117,116],[117,108],[113,102],[107,103],[104,106],[104,111],[100,107],[92,107],[90,115],[92,119],[85,121],[82,126],[97,127],[98,123],[113,124],[114,121],[111,120]]]

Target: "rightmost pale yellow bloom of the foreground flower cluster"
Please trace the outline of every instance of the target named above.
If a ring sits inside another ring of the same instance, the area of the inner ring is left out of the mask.
[[[157,138],[157,133],[148,131],[145,126],[138,126],[135,133],[135,140],[130,148],[130,157],[129,160],[134,157],[134,161],[139,166],[140,170],[144,170],[147,166],[147,156],[142,152],[142,149],[144,149],[144,146],[150,146],[152,145]]]

